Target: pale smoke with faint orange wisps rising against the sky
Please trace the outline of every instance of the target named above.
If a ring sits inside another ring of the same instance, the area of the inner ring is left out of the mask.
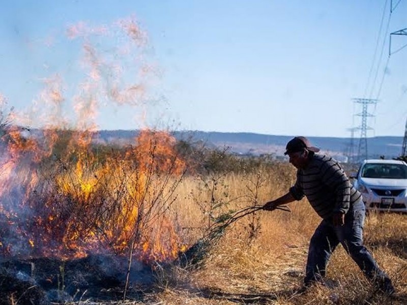
[[[160,75],[148,55],[148,35],[135,17],[101,25],[79,21],[68,25],[57,42],[48,42],[35,44],[52,53],[41,58],[47,76],[35,79],[43,89],[30,106],[14,113],[16,125],[94,131],[103,128],[102,117],[114,109],[130,107],[120,124],[162,100],[155,97]],[[137,129],[144,122],[132,124]]]

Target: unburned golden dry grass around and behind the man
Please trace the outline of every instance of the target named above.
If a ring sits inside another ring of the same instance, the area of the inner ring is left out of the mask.
[[[253,181],[257,173],[227,174],[210,192],[197,178],[186,178],[178,188],[175,214],[180,235],[193,243],[202,234],[208,213],[202,205],[229,202],[219,210],[261,204],[283,195],[294,181],[294,169],[280,164],[261,173],[256,202]],[[212,197],[212,198],[211,198]],[[213,198],[215,197],[215,198]],[[365,222],[364,238],[379,265],[392,278],[397,298],[378,293],[362,272],[339,247],[330,261],[327,278],[333,287],[311,287],[298,293],[304,278],[308,242],[319,218],[306,200],[290,204],[292,212],[258,212],[258,232],[249,239],[250,219],[242,219],[219,241],[198,270],[174,265],[158,272],[154,292],[146,293],[134,304],[403,304],[407,303],[407,219],[405,215],[370,214]],[[86,302],[83,302],[86,304]],[[101,303],[99,303],[101,304]],[[108,303],[106,303],[108,304]],[[118,303],[119,304],[119,303]],[[133,304],[133,303],[120,303]]]

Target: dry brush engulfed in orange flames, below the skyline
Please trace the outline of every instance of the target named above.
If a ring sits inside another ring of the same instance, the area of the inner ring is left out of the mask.
[[[145,261],[176,257],[182,242],[169,211],[186,165],[175,139],[143,131],[134,147],[96,158],[86,135],[68,138],[64,154],[43,158],[19,137],[4,148],[13,156],[2,180],[3,255],[72,258],[131,250]]]

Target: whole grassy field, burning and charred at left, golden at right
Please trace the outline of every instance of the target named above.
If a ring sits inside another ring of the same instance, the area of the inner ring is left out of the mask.
[[[193,151],[161,132],[146,132],[137,146],[118,151],[67,141],[70,147],[62,141],[70,138],[60,137],[60,146],[45,150],[53,155],[18,135],[10,133],[15,137],[4,147],[10,160],[0,180],[0,250],[25,270],[2,265],[2,287],[19,286],[2,288],[4,304],[31,304],[35,290],[39,299],[54,293],[53,303],[71,305],[407,302],[405,215],[372,214],[365,222],[366,245],[398,292],[391,299],[341,247],[328,267],[329,285],[299,293],[320,221],[305,199],[291,203],[290,212],[257,210],[222,227],[234,211],[285,194],[295,181],[288,163]],[[153,266],[148,283],[137,282],[146,268],[132,267],[127,281],[130,257]],[[56,267],[40,275],[51,263]]]

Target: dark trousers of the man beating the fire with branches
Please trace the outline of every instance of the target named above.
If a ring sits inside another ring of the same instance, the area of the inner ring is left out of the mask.
[[[370,281],[383,281],[387,278],[386,273],[379,268],[370,252],[363,246],[365,214],[365,205],[360,200],[351,204],[343,226],[334,227],[330,220],[323,220],[319,224],[309,244],[305,285],[322,280],[329,258],[339,242]]]

